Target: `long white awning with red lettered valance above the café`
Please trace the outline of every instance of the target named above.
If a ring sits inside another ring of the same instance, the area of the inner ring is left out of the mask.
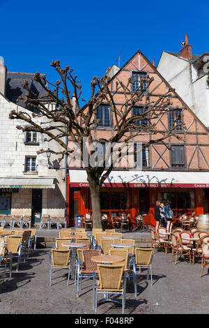
[[[70,186],[88,187],[85,170],[70,170]],[[209,172],[112,171],[103,187],[209,188]]]

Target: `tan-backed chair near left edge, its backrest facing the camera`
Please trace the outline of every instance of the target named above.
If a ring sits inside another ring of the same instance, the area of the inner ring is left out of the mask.
[[[8,260],[10,261],[10,267],[12,267],[13,258],[17,258],[17,268],[19,270],[20,262],[22,258],[22,237],[6,237],[6,248],[8,250]]]

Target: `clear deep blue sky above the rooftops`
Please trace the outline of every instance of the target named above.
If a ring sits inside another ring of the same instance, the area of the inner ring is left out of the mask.
[[[0,56],[9,71],[59,77],[59,59],[82,82],[86,100],[93,76],[141,50],[155,64],[163,50],[179,52],[188,34],[192,53],[209,52],[209,1],[0,0]]]

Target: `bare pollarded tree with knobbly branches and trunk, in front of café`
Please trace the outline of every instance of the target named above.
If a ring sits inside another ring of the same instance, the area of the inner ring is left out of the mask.
[[[44,141],[55,140],[61,146],[61,151],[57,152],[53,149],[50,151],[54,154],[61,155],[59,161],[66,155],[73,153],[75,149],[68,147],[68,142],[65,142],[65,137],[68,140],[79,144],[81,150],[81,160],[84,163],[84,138],[88,140],[89,155],[95,153],[95,148],[91,146],[95,142],[104,142],[104,138],[95,140],[94,131],[98,128],[100,121],[97,118],[97,110],[100,105],[106,104],[110,108],[113,117],[114,135],[108,140],[109,144],[116,142],[125,142],[133,140],[137,136],[146,135],[146,133],[155,134],[155,140],[150,140],[144,144],[147,147],[156,142],[164,142],[170,136],[178,135],[175,133],[178,127],[179,117],[176,117],[173,126],[164,131],[157,128],[157,119],[163,115],[167,115],[171,110],[171,96],[173,89],[169,89],[165,94],[155,98],[150,102],[150,84],[153,82],[153,77],[146,76],[145,80],[141,80],[139,87],[132,92],[132,80],[127,80],[126,83],[116,78],[116,87],[114,91],[111,89],[111,78],[104,75],[102,78],[93,77],[91,81],[91,97],[88,101],[82,98],[82,84],[77,80],[77,76],[72,75],[72,69],[69,66],[61,68],[60,61],[52,61],[51,64],[59,74],[59,79],[55,84],[49,83],[40,75],[36,73],[33,80],[36,80],[46,94],[42,98],[34,93],[30,88],[28,82],[24,82],[23,87],[28,92],[24,98],[24,103],[36,109],[36,113],[28,114],[23,111],[11,111],[10,119],[20,119],[27,123],[24,126],[17,126],[22,131],[35,130],[47,135]],[[49,85],[52,86],[49,88]],[[144,87],[146,86],[146,87]],[[116,103],[116,96],[122,93],[124,101],[123,105],[118,106]],[[72,103],[73,94],[75,104]],[[49,108],[47,104],[56,104],[55,109]],[[132,115],[132,108],[137,104],[144,104],[144,110],[135,116]],[[46,126],[45,121],[40,124],[37,123],[37,117],[44,117],[48,121]],[[146,121],[148,124],[137,124],[139,121]],[[89,151],[90,149],[90,151]],[[44,153],[46,150],[40,149],[38,154]],[[107,149],[107,153],[111,154],[111,146]],[[121,155],[119,155],[120,157]],[[103,158],[103,162],[104,162]],[[91,204],[93,211],[93,227],[101,228],[101,210],[100,210],[100,188],[107,179],[109,173],[114,168],[114,160],[111,157],[109,167],[105,165],[86,165],[83,164],[86,170],[89,188],[91,191]]]

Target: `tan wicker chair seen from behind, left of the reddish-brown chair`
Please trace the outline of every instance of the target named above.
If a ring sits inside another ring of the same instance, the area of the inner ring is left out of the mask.
[[[52,285],[52,272],[53,269],[68,269],[68,281],[70,278],[70,251],[69,250],[59,250],[52,249],[51,251],[51,262],[50,262],[50,283]]]

